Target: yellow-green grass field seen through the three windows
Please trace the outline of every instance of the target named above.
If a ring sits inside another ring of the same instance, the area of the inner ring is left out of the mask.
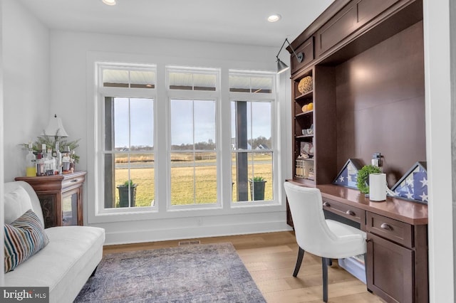
[[[177,156],[180,156],[178,158]],[[172,159],[179,162],[180,166],[171,167],[171,201],[172,205],[189,205],[189,204],[204,204],[215,203],[217,201],[217,171],[215,159],[208,156],[206,159],[197,160],[195,164],[204,164],[205,166],[186,166],[192,165],[189,161],[188,154],[173,154]],[[204,158],[204,157],[203,157]],[[234,158],[233,158],[234,159]],[[123,163],[122,160],[116,158],[116,162]],[[134,163],[135,159],[130,161]],[[147,159],[142,156],[143,163]],[[150,160],[149,160],[150,161]],[[236,161],[232,162],[234,165]],[[213,165],[211,165],[213,164]],[[252,174],[254,169],[254,174]],[[136,201],[135,206],[150,206],[155,199],[155,169],[153,168],[132,168],[130,169],[130,178],[135,184]],[[262,176],[266,180],[264,199],[271,200],[272,196],[272,159],[268,154],[254,154],[253,159],[249,159],[248,169],[249,179],[251,176]],[[195,182],[194,182],[195,176]],[[115,185],[123,184],[128,180],[128,169],[115,169]],[[232,167],[232,195],[233,200],[237,200],[237,181],[236,167]],[[247,186],[249,186],[247,184]],[[249,188],[246,188],[249,191]],[[118,201],[119,194],[115,191],[115,201]],[[248,194],[248,201],[252,197]],[[245,201],[245,200],[244,200]]]

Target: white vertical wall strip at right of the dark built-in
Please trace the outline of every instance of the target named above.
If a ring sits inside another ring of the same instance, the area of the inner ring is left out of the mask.
[[[450,14],[453,0],[424,0],[430,302],[452,302]]]

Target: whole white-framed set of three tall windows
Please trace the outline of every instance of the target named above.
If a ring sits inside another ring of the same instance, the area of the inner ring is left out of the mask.
[[[97,67],[97,216],[278,204],[275,73]]]

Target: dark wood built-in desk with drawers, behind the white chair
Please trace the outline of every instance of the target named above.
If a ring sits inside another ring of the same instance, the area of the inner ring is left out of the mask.
[[[323,210],[366,231],[368,289],[388,302],[428,302],[427,205],[390,197],[373,202],[356,189],[332,184],[316,188]]]

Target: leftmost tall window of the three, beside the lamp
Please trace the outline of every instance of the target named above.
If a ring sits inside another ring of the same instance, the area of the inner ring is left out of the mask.
[[[101,70],[104,208],[155,206],[155,70]]]

